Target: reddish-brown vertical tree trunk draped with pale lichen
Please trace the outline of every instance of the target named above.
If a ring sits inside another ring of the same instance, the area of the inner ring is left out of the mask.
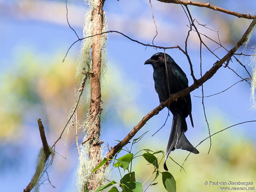
[[[102,33],[102,23],[104,19],[103,5],[105,0],[93,0],[92,11],[92,35]],[[91,72],[91,101],[90,101],[90,126],[93,132],[93,138],[89,141],[90,159],[99,159],[100,163],[100,68],[101,68],[101,35],[92,37],[92,72]],[[95,191],[101,184],[97,183],[97,172],[94,172],[91,179],[86,184],[89,190]]]

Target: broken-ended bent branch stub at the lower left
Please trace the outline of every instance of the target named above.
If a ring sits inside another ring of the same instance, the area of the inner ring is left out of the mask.
[[[43,163],[45,165],[46,162],[47,162],[47,159],[49,158],[49,156],[51,154],[51,152],[50,152],[50,149],[49,149],[46,137],[45,137],[44,126],[42,124],[41,119],[37,119],[37,123],[38,123],[40,137],[41,137],[41,140],[42,140],[42,143],[43,143],[43,148],[44,148],[45,159],[44,159]],[[33,187],[35,187],[36,182],[38,181],[38,178],[39,178],[42,171],[43,170],[41,169],[41,167],[39,167],[39,166],[36,167],[36,172],[35,172],[33,178],[29,182],[28,186],[25,189],[23,189],[23,192],[30,192],[31,189]]]

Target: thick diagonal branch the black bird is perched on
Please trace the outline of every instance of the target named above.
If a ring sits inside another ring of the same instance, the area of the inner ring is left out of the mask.
[[[121,149],[123,148],[131,139],[132,137],[147,123],[147,121],[152,118],[153,116],[157,115],[159,111],[161,111],[164,107],[166,107],[169,103],[172,103],[175,99],[178,99],[180,97],[186,96],[188,93],[194,91],[198,87],[200,87],[203,83],[205,83],[207,80],[212,78],[212,76],[217,72],[217,70],[222,66],[222,64],[230,59],[234,55],[234,53],[237,51],[237,49],[245,42],[247,41],[247,36],[252,31],[253,27],[256,24],[256,18],[252,21],[250,26],[247,28],[247,30],[244,32],[244,35],[241,37],[241,39],[236,43],[236,45],[218,62],[215,63],[215,65],[207,71],[204,76],[202,76],[200,79],[197,80],[197,83],[193,83],[188,88],[177,92],[173,94],[168,100],[164,101],[162,103],[162,107],[159,105],[156,108],[154,108],[152,111],[150,111],[146,116],[144,116],[141,121],[132,129],[131,132],[129,132],[126,137],[119,142],[116,146],[113,148],[110,148],[109,152],[107,153],[107,158],[112,159],[113,156]],[[109,164],[110,161],[107,163]]]

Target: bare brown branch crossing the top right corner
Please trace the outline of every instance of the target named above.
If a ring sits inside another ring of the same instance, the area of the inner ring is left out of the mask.
[[[157,1],[161,1],[163,3],[194,5],[197,7],[206,7],[206,8],[212,9],[214,11],[219,11],[219,12],[223,12],[223,13],[226,13],[229,15],[234,15],[239,18],[245,18],[245,19],[254,19],[255,18],[255,15],[250,15],[250,14],[247,15],[247,14],[242,14],[242,13],[238,13],[238,12],[234,12],[234,11],[229,11],[227,9],[223,9],[221,7],[216,7],[214,5],[211,5],[210,3],[200,3],[200,2],[181,1],[181,0],[157,0]]]

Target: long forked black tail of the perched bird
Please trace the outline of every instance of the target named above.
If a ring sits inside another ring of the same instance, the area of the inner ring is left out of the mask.
[[[184,129],[183,129],[184,128]],[[185,117],[182,117],[180,114],[173,115],[172,119],[172,129],[169,137],[169,141],[165,153],[164,169],[168,171],[166,166],[166,160],[171,151],[174,149],[183,149],[189,152],[198,154],[199,151],[193,147],[193,145],[186,138],[183,130],[187,129],[187,123]]]

